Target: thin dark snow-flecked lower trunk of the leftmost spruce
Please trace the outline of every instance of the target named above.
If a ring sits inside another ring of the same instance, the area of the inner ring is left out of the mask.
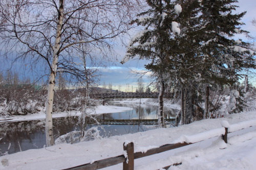
[[[159,102],[159,108],[158,108],[158,126],[162,128],[166,128],[165,122],[164,122],[164,112],[163,112],[163,93],[164,93],[164,81],[161,76],[160,78],[160,91],[158,95],[158,102]]]

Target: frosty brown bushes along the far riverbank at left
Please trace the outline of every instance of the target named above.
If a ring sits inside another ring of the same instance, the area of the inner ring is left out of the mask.
[[[0,87],[0,115],[26,115],[44,110],[47,91],[35,90],[31,86]],[[53,111],[84,110],[84,106],[91,108],[98,106],[99,101],[86,97],[83,89],[56,90],[53,102]]]

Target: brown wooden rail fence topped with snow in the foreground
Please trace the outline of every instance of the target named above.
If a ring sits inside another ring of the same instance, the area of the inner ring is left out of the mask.
[[[106,158],[102,160],[95,161],[93,163],[82,164],[79,166],[67,168],[73,170],[93,170],[100,169],[104,167],[113,166],[119,163],[123,163],[123,170],[133,170],[134,169],[134,159],[142,158],[145,156],[150,156],[154,154],[158,154],[161,152],[177,149],[184,147],[189,144],[198,143],[203,140],[207,140],[216,136],[222,136],[222,139],[227,143],[227,134],[235,131],[239,131],[242,129],[246,129],[252,126],[256,126],[256,119],[248,120],[246,122],[241,122],[238,124],[229,125],[226,120],[222,120],[221,122],[222,128],[212,129],[206,132],[202,132],[195,135],[182,135],[180,138],[174,141],[172,144],[164,144],[161,147],[150,147],[152,149],[139,148],[137,152],[134,153],[134,143],[125,141],[123,143],[124,154],[116,157]],[[233,142],[232,142],[233,143]],[[175,163],[173,165],[179,165],[181,163]],[[169,168],[172,165],[164,167],[165,169]]]

